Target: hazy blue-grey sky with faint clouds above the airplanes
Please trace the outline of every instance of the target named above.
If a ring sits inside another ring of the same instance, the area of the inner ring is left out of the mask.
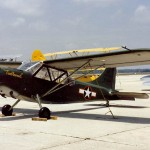
[[[149,0],[0,0],[1,55],[114,46],[150,48]]]

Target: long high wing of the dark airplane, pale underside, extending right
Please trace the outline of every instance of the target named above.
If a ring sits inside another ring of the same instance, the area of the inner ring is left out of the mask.
[[[150,64],[150,49],[123,49],[109,53],[46,60],[44,63],[64,70],[77,69],[82,65],[86,66],[86,69],[146,65]]]

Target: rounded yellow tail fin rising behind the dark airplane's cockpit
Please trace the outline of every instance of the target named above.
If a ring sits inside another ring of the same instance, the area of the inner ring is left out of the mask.
[[[46,60],[42,52],[38,49],[34,50],[32,53],[32,61],[40,61],[40,60]]]

